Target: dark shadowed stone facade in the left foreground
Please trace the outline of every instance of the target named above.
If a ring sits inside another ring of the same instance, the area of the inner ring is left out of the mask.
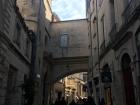
[[[0,105],[19,105],[25,101],[22,84],[31,70],[32,41],[15,0],[0,5]]]

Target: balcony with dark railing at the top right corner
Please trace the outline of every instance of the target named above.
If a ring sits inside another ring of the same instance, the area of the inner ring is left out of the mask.
[[[126,6],[122,16],[124,20],[124,24],[127,24],[132,17],[135,15],[137,7],[140,5],[139,0],[131,0],[129,4]]]

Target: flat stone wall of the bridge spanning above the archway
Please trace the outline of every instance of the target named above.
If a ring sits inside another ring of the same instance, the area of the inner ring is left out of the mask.
[[[63,47],[62,36],[67,34],[67,46]],[[54,58],[88,56],[87,20],[72,20],[51,23],[49,52]]]

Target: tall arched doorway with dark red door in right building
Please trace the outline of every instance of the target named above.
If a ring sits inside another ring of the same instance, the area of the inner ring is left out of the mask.
[[[136,105],[135,94],[134,94],[134,85],[133,85],[133,76],[132,70],[130,67],[131,59],[128,54],[124,54],[121,60],[122,65],[122,76],[124,80],[124,89],[125,89],[125,98],[126,105]]]

